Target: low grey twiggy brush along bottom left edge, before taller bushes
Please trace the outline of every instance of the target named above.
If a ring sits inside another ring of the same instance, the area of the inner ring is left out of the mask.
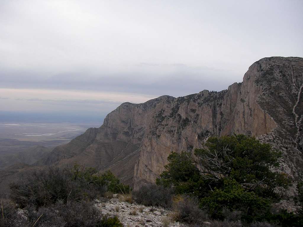
[[[0,218],[1,227],[122,227],[117,217],[102,216],[91,202],[58,201],[38,209],[27,206],[23,211],[18,211],[9,204],[5,204],[4,209],[7,210],[8,207],[10,214],[5,212],[5,218]]]

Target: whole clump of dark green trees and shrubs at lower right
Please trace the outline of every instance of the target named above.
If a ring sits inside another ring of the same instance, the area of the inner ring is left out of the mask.
[[[157,185],[198,198],[211,219],[224,220],[228,211],[241,213],[244,223],[301,225],[301,215],[273,211],[291,182],[285,173],[274,171],[281,153],[269,144],[245,135],[210,137],[195,157],[172,153]]]

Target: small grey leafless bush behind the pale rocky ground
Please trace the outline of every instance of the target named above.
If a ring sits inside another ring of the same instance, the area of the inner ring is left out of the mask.
[[[145,206],[170,207],[173,190],[155,184],[144,184],[132,192],[135,201]]]

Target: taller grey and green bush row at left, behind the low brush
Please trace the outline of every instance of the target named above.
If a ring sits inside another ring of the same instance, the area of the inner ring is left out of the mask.
[[[108,189],[118,192],[129,190],[128,186],[119,183],[111,173],[96,175],[97,169],[84,169],[75,165],[72,169],[48,167],[28,174],[17,183],[10,185],[10,198],[20,208],[33,205],[37,208],[68,200],[88,200],[103,196]]]

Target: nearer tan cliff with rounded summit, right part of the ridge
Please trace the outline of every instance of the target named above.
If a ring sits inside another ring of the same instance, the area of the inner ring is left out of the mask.
[[[302,170],[302,73],[302,58],[263,58],[249,67],[241,84],[176,99],[175,115],[164,110],[162,123],[147,129],[135,167],[135,186],[154,182],[170,152],[192,152],[209,135],[233,133],[260,137],[284,151],[284,171],[298,176]],[[153,136],[152,132],[157,133]]]

